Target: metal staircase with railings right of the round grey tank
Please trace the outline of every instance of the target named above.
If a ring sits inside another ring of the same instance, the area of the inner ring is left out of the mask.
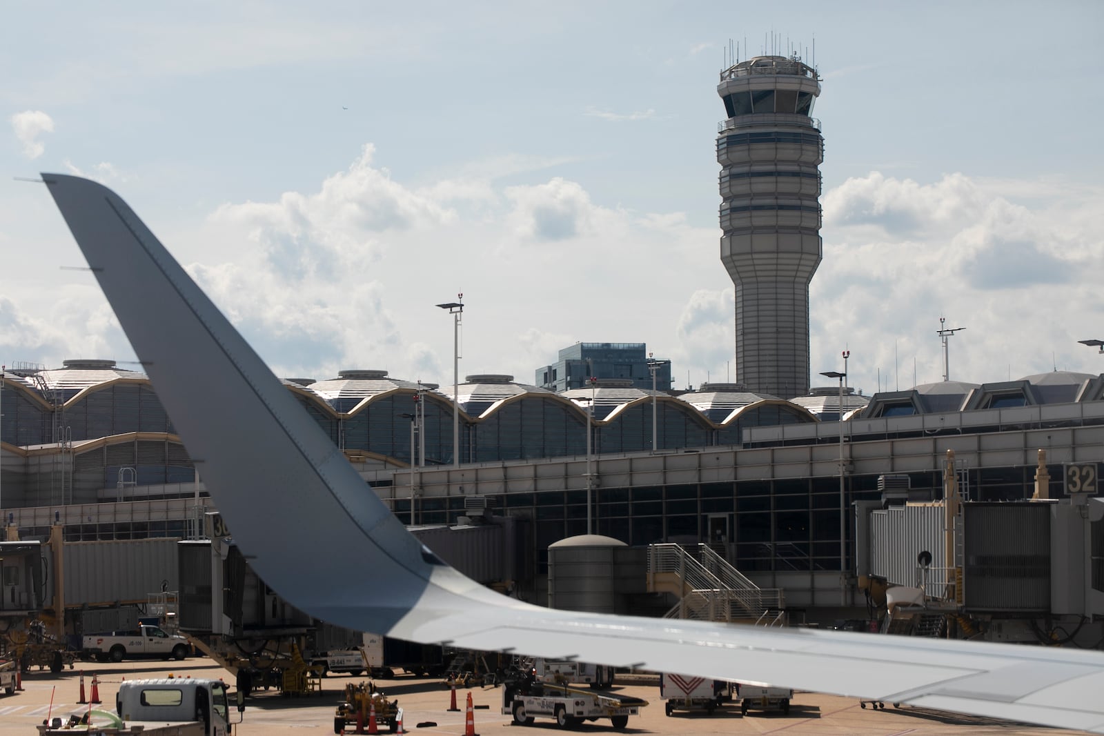
[[[708,544],[648,545],[648,591],[679,597],[665,618],[784,622],[781,588],[760,588]]]

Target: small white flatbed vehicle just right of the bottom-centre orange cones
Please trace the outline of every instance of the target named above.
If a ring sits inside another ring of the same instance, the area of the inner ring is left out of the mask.
[[[538,682],[532,672],[511,673],[502,685],[502,715],[519,726],[530,726],[537,716],[555,718],[561,728],[578,728],[584,721],[609,718],[614,728],[625,728],[630,715],[640,715],[648,701],[619,693],[601,693],[570,685]]]

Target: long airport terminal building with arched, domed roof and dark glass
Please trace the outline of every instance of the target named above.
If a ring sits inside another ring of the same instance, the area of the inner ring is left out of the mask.
[[[591,532],[634,547],[709,544],[816,618],[861,602],[853,585],[841,594],[840,574],[854,576],[866,545],[856,504],[883,505],[885,478],[898,488],[904,479],[909,500],[940,499],[953,450],[965,500],[1013,502],[1032,495],[1040,449],[1052,498],[1064,494],[1065,463],[1100,470],[1104,459],[1100,375],[849,394],[842,424],[818,419],[838,416],[835,390],[785,402],[731,384],[679,396],[617,382],[554,394],[509,376],[469,378],[459,462],[450,386],[379,371],[286,385],[400,519],[448,526],[487,510],[526,520],[531,563],[520,576],[535,602],[549,547],[587,533],[588,498]],[[0,502],[21,537],[44,538],[55,518],[72,541],[184,537],[197,533],[197,504],[214,510],[144,375],[66,361],[8,373],[2,392]]]

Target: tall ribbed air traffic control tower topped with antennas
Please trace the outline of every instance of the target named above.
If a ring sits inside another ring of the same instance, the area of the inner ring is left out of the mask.
[[[824,138],[816,70],[756,56],[721,72],[721,260],[736,294],[736,381],[782,398],[809,392],[809,281],[820,264]]]

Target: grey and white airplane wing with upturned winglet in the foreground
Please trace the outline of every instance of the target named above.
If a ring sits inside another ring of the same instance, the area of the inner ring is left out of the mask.
[[[1098,651],[581,614],[488,590],[406,531],[118,195],[42,177],[235,543],[301,610],[425,643],[1104,733]]]

